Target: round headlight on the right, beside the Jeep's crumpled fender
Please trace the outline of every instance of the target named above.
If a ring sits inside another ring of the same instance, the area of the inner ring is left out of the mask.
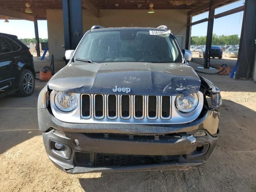
[[[178,95],[176,97],[175,104],[178,110],[182,112],[192,112],[198,105],[198,96],[196,93],[189,95]]]

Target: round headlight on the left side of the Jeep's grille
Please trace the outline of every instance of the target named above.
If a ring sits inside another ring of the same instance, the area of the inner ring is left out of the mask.
[[[59,91],[54,98],[57,108],[64,112],[70,112],[77,106],[75,94]]]

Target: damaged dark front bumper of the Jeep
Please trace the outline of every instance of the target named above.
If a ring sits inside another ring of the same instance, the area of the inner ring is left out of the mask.
[[[73,174],[199,167],[208,160],[218,140],[218,120],[218,112],[208,111],[187,124],[73,124],[57,120],[47,109],[38,109],[39,127],[48,157],[58,168]],[[198,130],[205,135],[194,137]],[[55,142],[64,147],[56,150]],[[99,160],[99,154],[104,158]],[[86,162],[85,155],[88,155]],[[116,166],[110,160],[112,156],[113,161],[120,158],[125,162]],[[139,159],[157,157],[159,161],[146,164],[141,160],[136,165],[126,166],[129,158],[138,156]]]

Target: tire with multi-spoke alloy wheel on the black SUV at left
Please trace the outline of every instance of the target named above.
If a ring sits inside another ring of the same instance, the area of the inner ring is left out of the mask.
[[[18,96],[27,97],[32,95],[35,89],[35,77],[30,70],[23,70],[20,76],[20,89],[18,90]]]

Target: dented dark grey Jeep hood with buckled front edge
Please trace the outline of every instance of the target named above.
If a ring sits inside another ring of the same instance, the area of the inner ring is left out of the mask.
[[[48,87],[74,93],[127,94],[113,92],[117,86],[130,88],[128,94],[164,96],[196,93],[200,84],[194,69],[186,64],[71,62],[51,78]]]

